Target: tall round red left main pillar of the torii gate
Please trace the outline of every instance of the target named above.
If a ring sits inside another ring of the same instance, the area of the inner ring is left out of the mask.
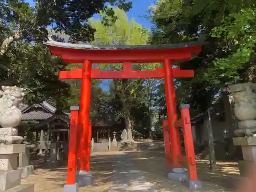
[[[80,96],[79,122],[82,127],[81,138],[79,142],[80,167],[79,170],[87,169],[87,144],[89,129],[90,97],[91,97],[91,61],[84,61],[82,65],[82,82]]]

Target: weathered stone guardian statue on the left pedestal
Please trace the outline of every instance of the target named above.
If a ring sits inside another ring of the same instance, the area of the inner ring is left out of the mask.
[[[17,136],[16,126],[22,121],[22,112],[17,106],[22,102],[24,89],[2,86],[0,91],[0,143],[20,144],[23,137]]]

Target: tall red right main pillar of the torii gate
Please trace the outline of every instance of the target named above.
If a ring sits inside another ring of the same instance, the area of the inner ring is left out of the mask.
[[[172,63],[170,60],[163,61],[163,69],[165,72],[164,86],[165,97],[168,114],[168,125],[170,135],[170,145],[172,146],[172,159],[174,168],[181,168],[182,165],[178,162],[178,156],[181,155],[181,140],[179,129],[176,129],[174,122],[177,120],[176,102],[175,102],[175,89],[172,73]]]

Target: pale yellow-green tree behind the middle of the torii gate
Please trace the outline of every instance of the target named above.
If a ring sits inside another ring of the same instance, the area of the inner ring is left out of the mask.
[[[116,17],[115,22],[110,22],[110,25],[105,26],[101,20],[91,19],[89,24],[93,29],[96,30],[94,34],[94,40],[91,42],[93,45],[145,45],[150,37],[149,31],[137,24],[134,20],[129,20],[121,9],[113,9]],[[100,12],[102,18],[106,18],[105,12]],[[108,17],[110,20],[111,17]],[[154,65],[155,67],[157,66]],[[102,70],[122,70],[122,65],[103,65],[99,67]],[[142,68],[148,69],[153,68],[152,65],[139,65],[134,64],[136,70]],[[126,129],[132,129],[134,124],[139,124],[138,121],[135,123],[136,110],[138,108],[145,108],[144,99],[145,92],[142,90],[146,89],[145,81],[142,79],[114,79],[111,82],[111,91],[113,96],[120,99],[122,108],[117,110],[116,116],[125,120]],[[148,103],[147,103],[148,104]],[[135,114],[133,114],[133,112]],[[143,115],[143,113],[141,113]],[[145,113],[148,115],[148,113]],[[143,118],[142,118],[143,119]],[[137,119],[138,120],[138,119]],[[151,127],[150,127],[151,129]]]

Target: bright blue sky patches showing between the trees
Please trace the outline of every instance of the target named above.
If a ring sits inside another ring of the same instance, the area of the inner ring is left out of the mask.
[[[28,2],[32,6],[35,5],[33,0],[26,0],[26,2]],[[132,0],[133,8],[129,12],[127,12],[128,18],[134,18],[136,23],[142,25],[147,29],[151,29],[151,20],[143,17],[143,15],[147,15],[148,8],[152,6],[154,2],[156,2],[156,0]],[[95,14],[93,18],[99,18],[99,15]],[[102,81],[100,87],[103,91],[109,91],[109,83],[109,80]]]

